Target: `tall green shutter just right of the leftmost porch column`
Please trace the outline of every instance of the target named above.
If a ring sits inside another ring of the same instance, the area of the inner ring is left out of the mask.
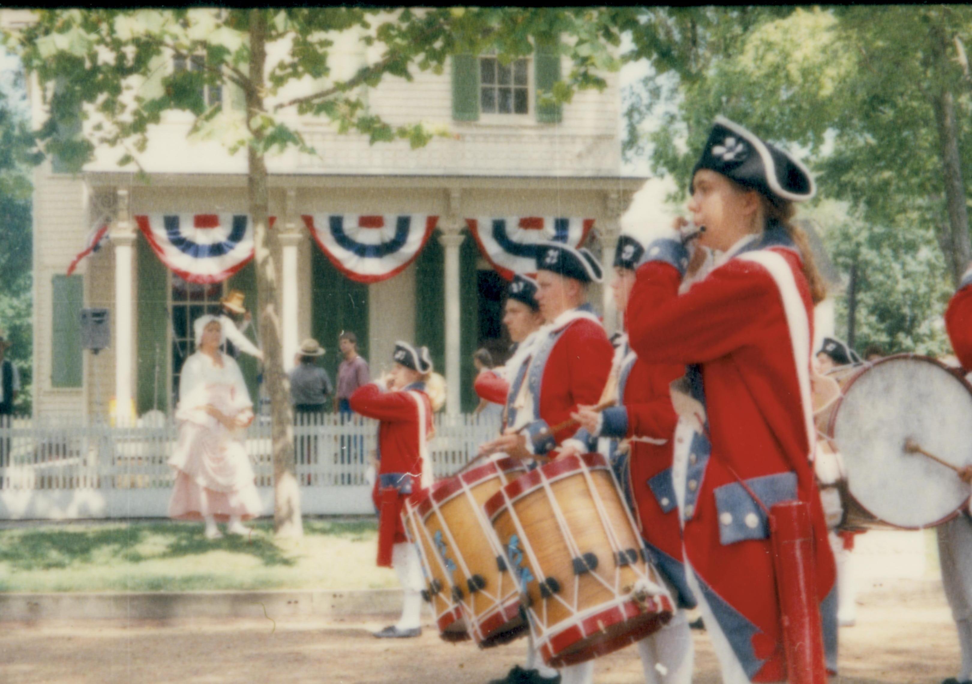
[[[138,415],[169,406],[169,272],[143,238],[135,241],[138,262],[138,363],[135,407]]]

